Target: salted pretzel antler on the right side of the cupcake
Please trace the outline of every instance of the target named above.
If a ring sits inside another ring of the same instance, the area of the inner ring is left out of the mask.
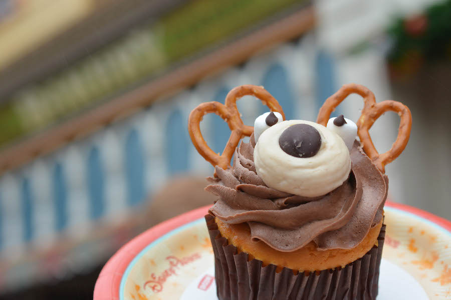
[[[398,157],[407,145],[410,129],[412,127],[412,115],[410,110],[401,102],[393,100],[385,100],[376,103],[376,99],[371,90],[363,85],[351,83],[343,85],[336,93],[327,98],[319,110],[316,122],[326,126],[331,112],[351,93],[359,94],[363,97],[364,101],[362,114],[357,121],[357,133],[360,137],[360,142],[363,145],[363,150],[368,157],[373,160],[377,168],[384,173],[385,165]],[[386,111],[397,112],[401,120],[395,142],[387,152],[379,154],[373,144],[369,129],[379,116]]]

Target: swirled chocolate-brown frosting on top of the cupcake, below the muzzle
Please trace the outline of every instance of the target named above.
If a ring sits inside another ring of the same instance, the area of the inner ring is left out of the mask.
[[[388,179],[362,151],[351,150],[348,180],[330,193],[307,198],[265,185],[254,165],[253,135],[242,142],[233,167],[215,167],[217,178],[205,190],[219,196],[209,213],[231,223],[248,223],[251,236],[279,251],[294,251],[311,241],[318,250],[350,249],[383,217]]]

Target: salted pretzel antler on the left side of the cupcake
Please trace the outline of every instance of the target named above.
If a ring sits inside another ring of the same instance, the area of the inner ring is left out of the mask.
[[[232,89],[225,97],[225,103],[216,101],[199,104],[189,114],[188,131],[194,147],[200,155],[213,166],[218,165],[223,169],[230,166],[230,160],[238,146],[240,139],[244,136],[250,136],[254,132],[253,126],[247,126],[243,123],[238,111],[237,100],[245,95],[253,95],[259,98],[263,104],[267,105],[271,111],[280,112],[285,120],[285,114],[279,102],[263,86],[252,84],[240,85]],[[225,145],[222,154],[215,153],[207,145],[200,132],[200,121],[207,113],[214,112],[229,124],[232,133]]]

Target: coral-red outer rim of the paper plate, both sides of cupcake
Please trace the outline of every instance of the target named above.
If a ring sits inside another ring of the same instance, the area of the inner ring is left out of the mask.
[[[406,204],[387,201],[388,207],[410,212],[451,232],[451,221]],[[122,246],[105,264],[94,287],[94,300],[119,300],[119,286],[127,266],[149,243],[169,231],[204,216],[211,205],[203,206],[170,218],[139,234]]]

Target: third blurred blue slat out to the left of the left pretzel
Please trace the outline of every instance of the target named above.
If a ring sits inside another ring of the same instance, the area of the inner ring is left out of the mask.
[[[90,217],[97,219],[105,211],[105,178],[100,151],[97,147],[93,147],[89,152],[87,170]]]

